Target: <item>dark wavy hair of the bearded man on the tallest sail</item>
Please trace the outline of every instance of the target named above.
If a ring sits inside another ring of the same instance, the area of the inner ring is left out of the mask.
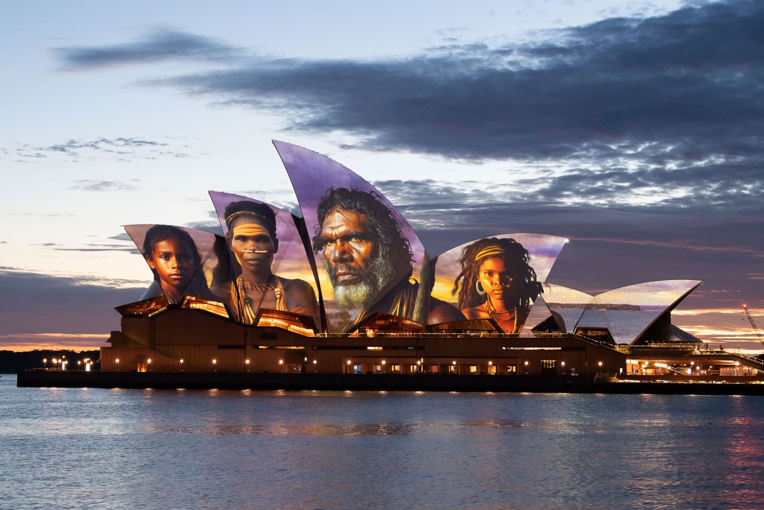
[[[393,209],[386,205],[384,197],[376,191],[348,190],[348,188],[339,187],[332,188],[326,193],[316,210],[319,224],[316,225],[314,230],[316,235],[312,239],[314,254],[324,249],[325,241],[321,236],[321,226],[326,214],[335,208],[366,216],[372,232],[377,236],[378,256],[389,259],[399,266],[407,263],[413,271],[411,262],[414,258],[409,240],[403,235]]]

